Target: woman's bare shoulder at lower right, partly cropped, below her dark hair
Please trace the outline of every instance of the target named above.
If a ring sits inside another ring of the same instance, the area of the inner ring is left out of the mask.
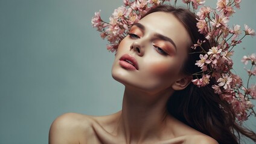
[[[188,140],[186,140],[186,144],[219,144],[215,139],[210,136],[206,136],[204,134],[196,134],[188,136]]]

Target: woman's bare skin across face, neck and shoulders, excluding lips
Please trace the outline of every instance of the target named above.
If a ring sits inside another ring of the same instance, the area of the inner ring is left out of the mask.
[[[50,144],[217,144],[167,113],[170,95],[191,82],[181,73],[191,45],[188,32],[170,13],[155,12],[138,23],[121,41],[112,67],[114,79],[125,86],[122,110],[109,116],[59,116],[51,125]],[[120,65],[126,54],[136,59],[138,70]]]

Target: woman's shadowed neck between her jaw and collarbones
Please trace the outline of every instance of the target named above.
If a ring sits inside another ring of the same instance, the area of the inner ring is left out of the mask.
[[[157,137],[168,119],[166,103],[171,92],[149,94],[126,87],[121,111],[120,131],[127,142]],[[159,137],[158,137],[159,138]]]

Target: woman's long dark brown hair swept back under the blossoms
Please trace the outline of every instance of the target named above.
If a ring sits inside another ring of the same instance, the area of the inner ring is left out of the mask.
[[[206,40],[204,35],[198,32],[196,16],[190,10],[161,5],[150,10],[145,16],[158,11],[173,14],[187,29],[192,44],[195,44],[197,40]],[[206,51],[211,48],[207,40],[202,47]],[[188,47],[188,52],[192,52],[192,50]],[[195,51],[199,52],[199,50],[193,50],[193,52]],[[200,68],[195,65],[199,60],[199,55],[200,53],[188,55],[183,68],[185,74],[191,75],[200,71]],[[240,134],[256,142],[255,133],[239,125],[235,121],[235,113],[231,106],[214,93],[211,86],[215,83],[216,80],[211,79],[209,85],[200,88],[190,83],[182,91],[174,92],[167,102],[168,112],[179,121],[213,137],[219,143],[240,143]]]

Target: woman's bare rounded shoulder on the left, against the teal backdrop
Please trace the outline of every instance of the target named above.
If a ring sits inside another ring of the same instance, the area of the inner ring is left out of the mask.
[[[81,143],[82,137],[93,135],[92,121],[91,116],[78,113],[65,113],[57,117],[51,124],[49,143]]]

